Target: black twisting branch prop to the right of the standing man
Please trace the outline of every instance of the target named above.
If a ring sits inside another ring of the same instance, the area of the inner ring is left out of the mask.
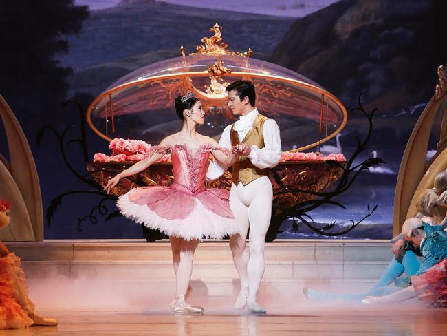
[[[351,158],[349,158],[349,160],[346,163],[331,161],[331,163],[333,163],[334,165],[338,165],[338,167],[342,169],[342,176],[340,176],[340,179],[338,180],[338,184],[336,185],[335,189],[327,192],[325,191],[316,192],[316,191],[303,190],[299,188],[294,189],[291,189],[290,187],[287,188],[283,185],[283,182],[281,182],[279,176],[275,174],[274,178],[276,180],[276,183],[278,183],[278,185],[283,189],[282,191],[279,191],[279,194],[307,193],[309,195],[316,196],[318,198],[301,202],[300,204],[296,205],[296,207],[291,207],[290,209],[282,211],[281,214],[279,214],[278,216],[274,216],[266,240],[272,241],[274,238],[276,238],[276,233],[279,231],[281,223],[289,218],[292,218],[293,221],[292,222],[293,232],[298,231],[298,222],[296,222],[296,220],[300,220],[303,224],[309,227],[309,229],[320,235],[325,235],[327,237],[336,237],[340,235],[345,235],[346,233],[349,233],[349,231],[352,231],[355,227],[358,226],[358,224],[363,222],[365,219],[369,218],[374,213],[375,209],[377,209],[378,207],[377,205],[375,205],[372,209],[368,205],[367,214],[363,218],[361,218],[356,222],[351,220],[350,221],[351,225],[347,229],[343,229],[342,231],[336,231],[336,232],[333,231],[334,227],[336,227],[337,224],[335,221],[325,225],[324,227],[317,227],[312,217],[307,214],[309,211],[317,209],[323,204],[331,204],[336,207],[346,209],[346,207],[343,204],[331,200],[331,198],[334,198],[335,196],[345,193],[351,187],[353,182],[358,178],[359,174],[365,169],[369,169],[369,167],[373,167],[374,165],[380,165],[384,163],[384,161],[380,158],[367,158],[360,164],[353,165],[354,160],[356,160],[359,154],[361,154],[365,149],[367,149],[367,143],[369,142],[373,131],[373,117],[375,112],[378,111],[378,109],[373,109],[370,113],[365,111],[361,101],[363,92],[364,91],[362,91],[358,96],[358,107],[353,108],[352,112],[358,112],[358,111],[362,112],[362,114],[364,114],[364,116],[368,120],[369,129],[363,140],[360,140],[356,136],[357,149],[356,151],[353,152]]]

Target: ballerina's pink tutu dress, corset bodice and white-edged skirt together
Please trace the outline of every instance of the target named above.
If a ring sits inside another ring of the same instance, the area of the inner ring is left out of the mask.
[[[238,233],[228,203],[229,191],[206,188],[209,145],[191,155],[184,145],[171,148],[171,187],[140,187],[120,196],[120,212],[151,229],[186,240],[215,238]],[[155,148],[160,152],[160,147]]]

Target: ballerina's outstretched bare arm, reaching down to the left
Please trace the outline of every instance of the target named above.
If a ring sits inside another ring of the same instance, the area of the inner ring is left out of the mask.
[[[168,145],[167,137],[162,140],[160,145],[153,146],[146,152],[147,158],[135,163],[135,165],[133,165],[132,167],[127,168],[120,174],[116,174],[114,178],[111,178],[109,182],[107,182],[107,185],[104,187],[104,190],[107,191],[107,193],[110,193],[110,190],[118,185],[118,182],[120,182],[121,178],[140,173],[140,171],[143,171],[154,162],[162,158],[162,156],[164,156],[164,154],[166,154],[169,149],[171,149],[171,145]]]

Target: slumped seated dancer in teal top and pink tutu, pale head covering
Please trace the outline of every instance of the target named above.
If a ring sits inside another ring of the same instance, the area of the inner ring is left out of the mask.
[[[422,251],[422,263],[411,276],[410,286],[390,295],[364,297],[367,304],[389,304],[419,297],[432,308],[447,308],[447,233],[433,219],[409,218],[402,226],[402,235]]]

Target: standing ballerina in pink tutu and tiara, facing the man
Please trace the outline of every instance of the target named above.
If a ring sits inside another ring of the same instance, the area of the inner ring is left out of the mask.
[[[175,301],[171,302],[174,313],[203,313],[203,308],[185,301],[195,249],[203,237],[221,239],[239,232],[228,204],[229,191],[205,186],[209,157],[228,167],[239,156],[196,132],[196,126],[204,123],[205,112],[192,93],[175,98],[175,111],[183,120],[182,130],[151,147],[147,158],[111,178],[105,190],[109,193],[120,178],[138,174],[171,153],[171,187],[136,188],[120,196],[117,205],[124,216],[169,236],[176,277]]]

